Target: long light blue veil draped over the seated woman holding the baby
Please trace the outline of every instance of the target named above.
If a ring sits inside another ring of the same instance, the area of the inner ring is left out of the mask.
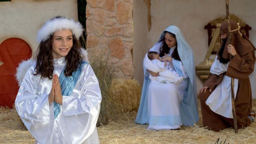
[[[164,32],[168,31],[170,33],[175,34],[179,57],[182,61],[184,69],[189,76],[189,85],[187,88],[187,93],[185,93],[183,97],[183,101],[180,104],[180,114],[182,118],[182,124],[186,126],[192,126],[195,122],[198,122],[198,109],[197,109],[197,94],[196,94],[196,82],[195,82],[195,63],[194,63],[194,55],[190,45],[186,42],[184,36],[177,26],[169,26],[167,29],[163,31],[160,35],[159,40],[155,45],[159,43],[159,41],[164,37]],[[141,101],[139,110],[137,113],[137,117],[135,122],[140,124],[148,123],[148,108],[147,108],[147,92],[148,85],[150,83],[150,79],[148,78],[147,70],[144,68],[144,82],[143,89],[141,93]]]

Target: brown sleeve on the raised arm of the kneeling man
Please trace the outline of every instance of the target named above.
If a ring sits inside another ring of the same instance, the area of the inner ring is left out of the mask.
[[[253,72],[254,63],[254,51],[250,51],[244,56],[236,54],[228,65],[226,75],[235,79],[246,79]]]

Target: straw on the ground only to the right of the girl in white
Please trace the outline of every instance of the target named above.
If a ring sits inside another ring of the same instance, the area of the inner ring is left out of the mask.
[[[253,100],[253,108],[256,108],[256,100]],[[98,127],[101,143],[215,143],[220,138],[219,143],[255,143],[256,123],[250,127],[239,129],[238,134],[234,129],[229,128],[221,132],[210,131],[202,127],[202,116],[200,104],[198,104],[200,120],[194,127],[184,127],[181,130],[147,131],[148,125],[135,124],[136,112],[119,115],[108,125]]]

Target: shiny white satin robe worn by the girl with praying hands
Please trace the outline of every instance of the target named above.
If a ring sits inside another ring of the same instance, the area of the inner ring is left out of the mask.
[[[54,74],[60,75],[65,57],[54,59]],[[15,100],[17,112],[40,144],[99,143],[96,123],[101,92],[91,66],[85,64],[70,96],[63,96],[60,113],[54,119],[53,102],[49,104],[52,80],[33,75],[35,65],[26,72]]]

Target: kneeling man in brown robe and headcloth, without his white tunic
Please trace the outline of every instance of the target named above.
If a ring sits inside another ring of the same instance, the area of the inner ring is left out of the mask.
[[[232,37],[231,44],[228,45],[227,22],[224,22],[221,24],[221,38],[223,39],[223,42],[221,49],[217,54],[218,57],[215,60],[224,64],[230,62],[227,71],[219,75],[210,74],[199,94],[203,126],[214,131],[234,127],[232,118],[226,118],[215,113],[205,103],[211,92],[213,92],[213,90],[222,82],[224,75],[238,79],[238,89],[235,99],[238,128],[248,127],[255,119],[255,113],[254,111],[251,111],[252,93],[250,79],[248,77],[254,70],[255,47],[245,35],[240,33],[239,24],[236,24],[234,21],[231,21],[230,24],[230,36]],[[231,60],[229,60],[229,54],[232,55]],[[223,109],[223,111],[225,111],[225,109]],[[254,115],[252,113],[254,113]]]

